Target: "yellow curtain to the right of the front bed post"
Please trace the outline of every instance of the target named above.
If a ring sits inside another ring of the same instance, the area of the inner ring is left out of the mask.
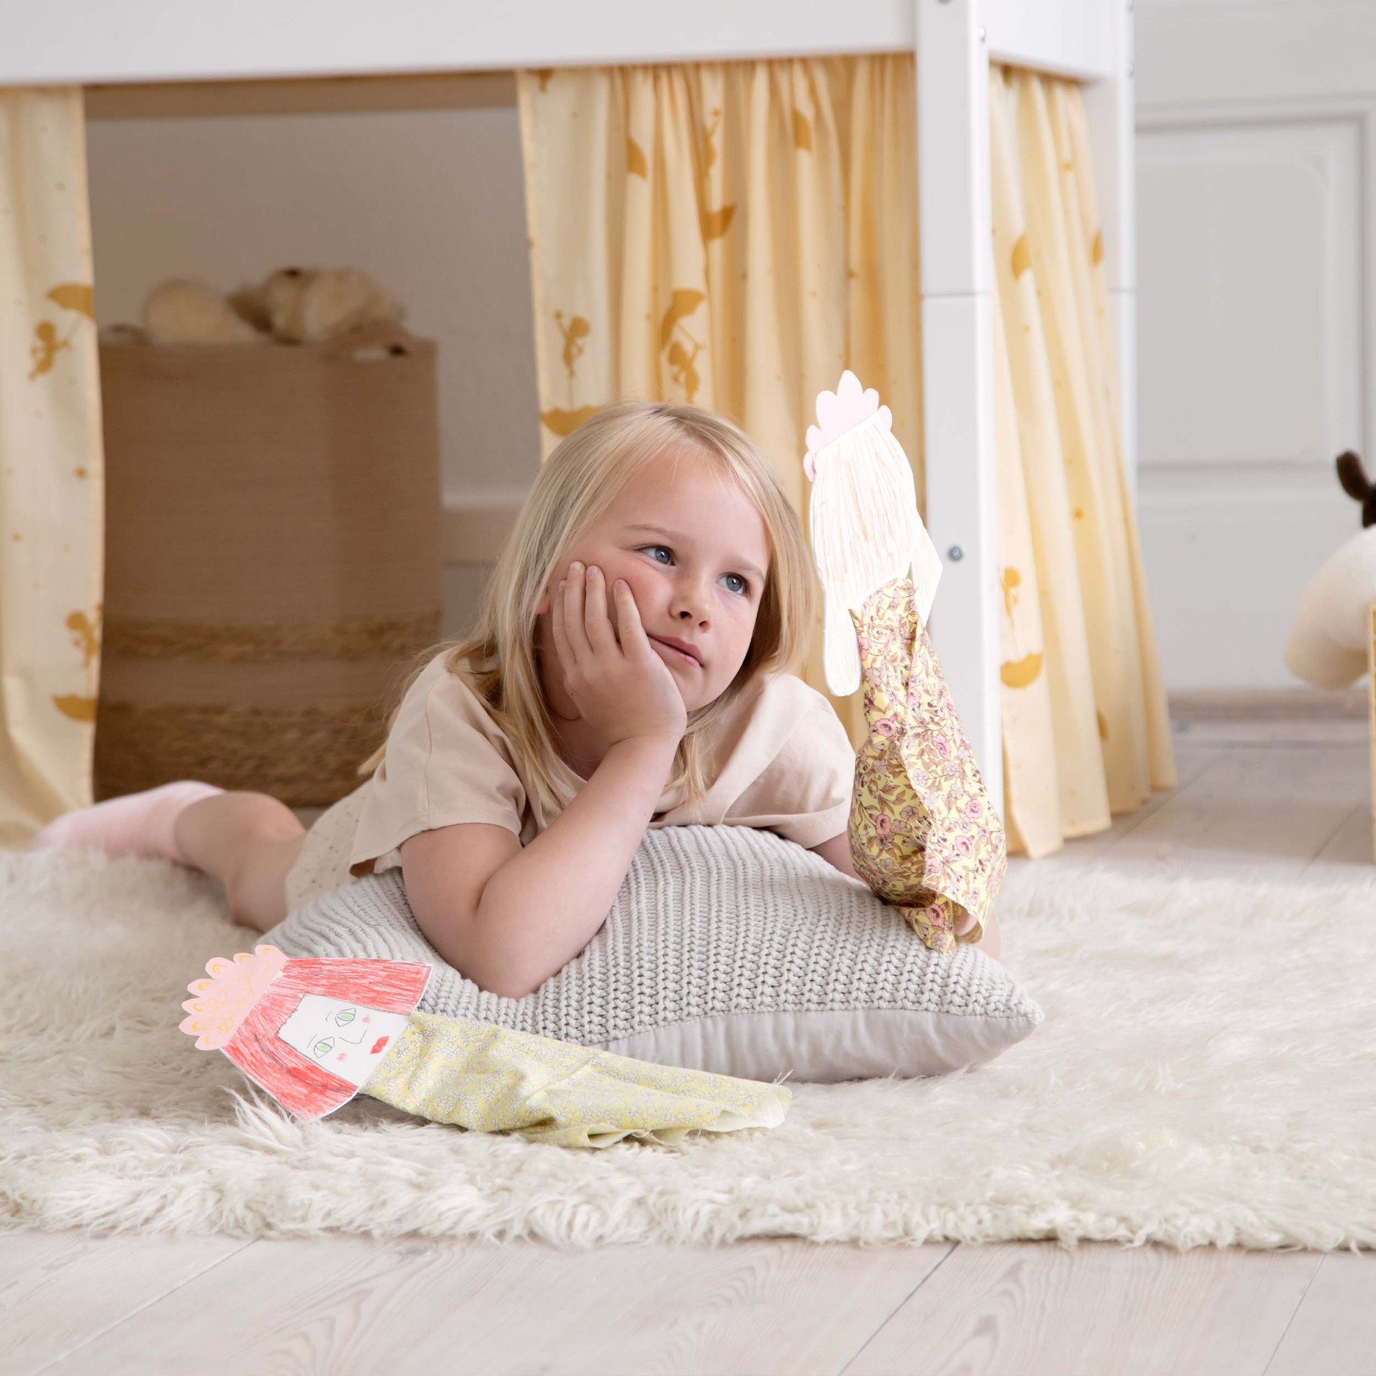
[[[1171,787],[1175,765],[1079,87],[993,67],[989,154],[1004,821],[1039,856]]]

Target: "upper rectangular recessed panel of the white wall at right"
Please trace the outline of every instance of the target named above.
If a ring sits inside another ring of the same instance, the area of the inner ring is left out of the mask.
[[[1359,184],[1353,120],[1139,135],[1142,464],[1359,443]]]

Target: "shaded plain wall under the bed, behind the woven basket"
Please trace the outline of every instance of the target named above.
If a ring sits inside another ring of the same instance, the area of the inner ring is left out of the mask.
[[[520,501],[539,417],[513,107],[91,120],[87,138],[102,325],[166,277],[366,268],[439,341],[446,505]],[[446,568],[446,633],[479,583]]]

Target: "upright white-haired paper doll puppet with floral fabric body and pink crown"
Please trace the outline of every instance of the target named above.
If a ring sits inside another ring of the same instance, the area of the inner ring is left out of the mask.
[[[808,428],[823,666],[838,698],[864,685],[849,823],[856,872],[948,954],[984,936],[1007,845],[927,638],[941,559],[892,424],[879,394],[846,372],[817,398]]]

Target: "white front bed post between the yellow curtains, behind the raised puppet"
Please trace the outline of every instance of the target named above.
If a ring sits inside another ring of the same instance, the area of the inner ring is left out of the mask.
[[[932,641],[1003,813],[993,450],[989,50],[981,0],[914,0]]]

